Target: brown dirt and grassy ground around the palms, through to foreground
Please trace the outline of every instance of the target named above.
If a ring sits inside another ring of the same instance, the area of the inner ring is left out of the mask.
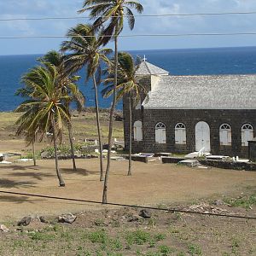
[[[85,117],[86,115],[86,117]],[[16,113],[0,113],[0,151],[26,155],[31,148],[15,137]],[[86,118],[86,121],[85,121]],[[73,117],[76,142],[96,138],[93,113]],[[103,139],[108,135],[108,117],[102,113]],[[114,137],[122,140],[122,123],[115,122]],[[64,139],[65,142],[65,139]],[[44,148],[49,142],[37,144]],[[14,161],[14,159],[9,159]],[[27,194],[102,201],[99,162],[59,161],[65,188],[58,186],[55,160],[0,165],[0,190]],[[106,165],[106,160],[104,160]],[[160,162],[133,162],[127,177],[128,162],[112,161],[108,202],[153,207],[192,207],[203,205],[224,214],[256,216],[256,172],[198,169]],[[227,201],[231,199],[231,201]],[[232,205],[232,200],[235,200]],[[215,206],[213,201],[224,204]],[[202,203],[203,202],[203,203]],[[204,204],[205,202],[205,204]],[[202,204],[201,204],[202,203]],[[246,208],[246,209],[245,209]],[[256,221],[220,218],[179,212],[151,211],[151,218],[138,217],[138,209],[106,207],[89,203],[7,195],[0,192],[0,255],[87,255],[87,256],[166,256],[166,255],[256,255]],[[60,214],[73,212],[73,224],[58,224]],[[44,216],[46,224],[33,220],[17,227],[17,220],[31,215]],[[134,221],[130,219],[135,218]],[[138,218],[137,218],[138,217]]]

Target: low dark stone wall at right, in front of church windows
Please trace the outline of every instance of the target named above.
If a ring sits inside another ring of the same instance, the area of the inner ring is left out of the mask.
[[[222,160],[199,160],[203,166],[212,166],[220,169],[232,169],[238,171],[256,171],[256,163],[241,163]]]

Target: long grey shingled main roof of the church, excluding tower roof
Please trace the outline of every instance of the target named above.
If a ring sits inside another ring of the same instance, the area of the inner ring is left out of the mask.
[[[162,76],[143,107],[256,109],[256,75]]]

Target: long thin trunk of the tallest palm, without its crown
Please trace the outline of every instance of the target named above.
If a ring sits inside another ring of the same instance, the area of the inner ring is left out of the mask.
[[[116,104],[116,87],[117,87],[117,76],[118,76],[118,30],[117,26],[115,27],[115,35],[114,35],[114,84],[113,84],[113,102],[110,109],[109,116],[109,130],[108,130],[108,163],[107,169],[105,173],[105,181],[103,187],[103,195],[102,195],[102,203],[108,203],[108,176],[110,171],[110,158],[111,158],[111,148],[112,148],[112,133],[113,133],[113,112]]]

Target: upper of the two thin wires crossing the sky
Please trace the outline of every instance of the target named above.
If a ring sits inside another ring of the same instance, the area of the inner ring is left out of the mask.
[[[133,15],[134,17],[172,17],[172,16],[215,16],[215,15],[256,15],[256,11],[251,12],[224,12],[224,13],[195,13],[195,14],[163,14],[163,15]],[[104,16],[96,16],[96,18],[103,18]],[[113,16],[115,18],[119,16]],[[124,15],[124,17],[131,17],[131,15]],[[90,16],[73,16],[73,17],[41,17],[41,18],[5,18],[0,21],[19,21],[19,20],[80,20],[90,19]]]

